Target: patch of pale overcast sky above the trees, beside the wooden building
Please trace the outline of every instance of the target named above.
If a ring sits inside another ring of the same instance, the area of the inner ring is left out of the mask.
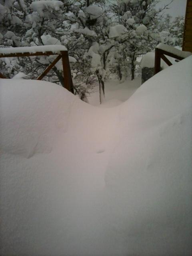
[[[157,5],[158,7],[163,6],[164,4],[170,3],[171,0],[160,0],[160,3]],[[187,0],[174,0],[168,10],[165,10],[166,13],[169,13],[171,16],[185,16],[186,10],[186,2]]]

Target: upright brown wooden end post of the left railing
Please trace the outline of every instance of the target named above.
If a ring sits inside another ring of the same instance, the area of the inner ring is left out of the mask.
[[[69,65],[69,57],[67,51],[61,51],[62,64],[63,64],[63,76],[64,76],[64,87],[74,94],[73,82],[71,77],[71,70]]]

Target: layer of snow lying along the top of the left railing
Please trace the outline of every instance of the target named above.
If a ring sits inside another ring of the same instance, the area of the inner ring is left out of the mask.
[[[36,53],[36,52],[53,52],[60,53],[60,51],[67,51],[63,45],[41,45],[41,46],[26,46],[26,47],[7,47],[0,48],[0,54],[15,54],[15,53]]]

